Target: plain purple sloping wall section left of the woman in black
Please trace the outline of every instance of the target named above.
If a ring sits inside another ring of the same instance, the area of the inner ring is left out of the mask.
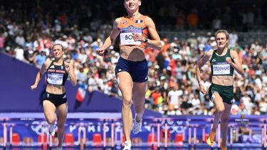
[[[0,112],[40,112],[43,82],[35,92],[30,89],[38,69],[0,53],[0,70]]]

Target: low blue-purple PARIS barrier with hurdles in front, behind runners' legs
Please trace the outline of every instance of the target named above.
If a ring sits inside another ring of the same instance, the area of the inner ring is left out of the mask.
[[[266,121],[266,116],[231,116],[228,149],[266,149]],[[56,149],[57,138],[47,134],[42,113],[2,113],[0,123],[0,149]],[[211,124],[210,116],[145,118],[142,132],[131,137],[132,149],[219,149],[220,125],[213,148],[205,144]],[[123,147],[120,113],[69,113],[65,127],[63,149]],[[249,134],[239,134],[239,127]]]

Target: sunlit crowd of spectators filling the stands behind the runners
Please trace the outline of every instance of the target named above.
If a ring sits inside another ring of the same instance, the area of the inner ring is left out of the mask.
[[[103,44],[103,38],[110,33],[112,26],[109,21],[92,20],[92,17],[88,23],[90,27],[88,31],[80,26],[80,21],[90,16],[90,10],[86,11],[86,14],[81,14],[85,13],[84,9],[87,7],[81,7],[82,11],[76,11],[77,14],[66,15],[68,11],[59,11],[56,15],[49,13],[44,15],[43,8],[39,8],[38,5],[31,11],[32,13],[29,13],[24,9],[26,6],[19,4],[21,7],[18,6],[18,9],[6,11],[3,6],[0,9],[1,53],[7,53],[40,68],[45,60],[52,58],[51,45],[61,43],[65,48],[66,61],[73,62],[75,66],[75,75],[80,86],[89,93],[99,90],[115,97],[121,96],[114,73],[119,58],[118,43],[110,47],[103,57],[95,52]],[[58,7],[53,6],[51,9],[56,10]],[[95,6],[95,9],[100,8]],[[259,13],[261,14],[261,11]],[[77,15],[80,18],[75,18]],[[81,18],[83,15],[85,18]],[[100,18],[103,14],[94,15],[99,15]],[[227,18],[227,16],[224,17]],[[262,18],[254,19],[262,21]],[[179,21],[177,23],[179,24]],[[264,23],[266,22],[258,24]],[[245,24],[247,26],[244,28],[253,27],[249,23]],[[214,29],[221,27],[216,26]],[[180,27],[177,26],[177,28]],[[179,37],[173,39],[161,37],[162,50],[152,48],[145,50],[149,65],[145,104],[147,109],[166,115],[213,114],[213,103],[209,101],[207,95],[199,93],[194,68],[204,52],[216,48],[212,33],[213,30],[204,34],[196,34],[192,31],[185,40]],[[234,75],[236,84],[232,114],[267,114],[267,39],[266,43],[254,41],[247,45],[239,45],[238,34],[231,31],[229,48],[239,53],[239,58],[246,70],[245,77],[240,77],[237,73]],[[211,84],[209,74],[210,69],[206,65],[202,70],[202,79],[206,88]]]

